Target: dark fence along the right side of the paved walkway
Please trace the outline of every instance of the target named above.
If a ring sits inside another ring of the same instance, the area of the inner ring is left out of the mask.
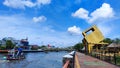
[[[91,56],[101,59],[103,61],[120,66],[120,53],[109,52],[109,51],[93,51],[90,53]]]

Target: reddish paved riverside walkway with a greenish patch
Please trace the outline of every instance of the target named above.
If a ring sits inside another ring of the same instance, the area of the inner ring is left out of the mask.
[[[77,52],[76,56],[79,62],[75,63],[75,68],[79,68],[79,66],[80,68],[120,68],[79,52]]]

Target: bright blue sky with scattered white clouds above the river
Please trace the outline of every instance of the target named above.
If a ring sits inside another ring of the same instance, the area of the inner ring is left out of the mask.
[[[118,0],[0,0],[0,39],[73,46],[96,25],[105,38],[120,38]]]

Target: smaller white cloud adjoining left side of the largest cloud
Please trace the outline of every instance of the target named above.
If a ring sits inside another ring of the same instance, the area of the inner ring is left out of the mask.
[[[85,10],[84,8],[80,8],[75,13],[72,13],[72,16],[88,20],[89,19],[88,14],[89,12],[87,10]]]

